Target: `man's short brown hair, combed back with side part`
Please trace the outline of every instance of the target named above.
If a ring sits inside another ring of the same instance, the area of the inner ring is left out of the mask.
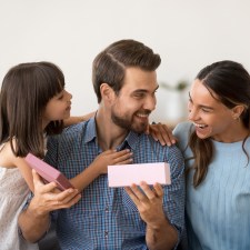
[[[138,67],[154,71],[160,63],[160,56],[139,41],[128,39],[113,42],[96,57],[92,64],[92,82],[98,103],[101,101],[101,83],[108,83],[116,93],[119,93],[126,68]]]

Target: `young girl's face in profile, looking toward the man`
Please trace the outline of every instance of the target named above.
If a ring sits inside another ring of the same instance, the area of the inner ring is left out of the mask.
[[[70,117],[71,98],[71,93],[62,90],[49,100],[42,117],[43,128],[51,121],[64,120]]]

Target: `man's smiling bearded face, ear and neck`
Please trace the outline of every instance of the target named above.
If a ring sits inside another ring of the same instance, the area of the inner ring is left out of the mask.
[[[147,128],[149,114],[156,108],[156,77],[154,71],[129,68],[118,96],[108,83],[101,84],[102,101],[97,112],[97,130],[102,150],[116,148],[130,130],[142,132]]]

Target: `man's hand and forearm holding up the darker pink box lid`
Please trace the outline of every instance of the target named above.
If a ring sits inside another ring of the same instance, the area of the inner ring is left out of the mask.
[[[37,242],[50,226],[50,211],[70,208],[81,196],[77,189],[60,191],[54,182],[44,184],[39,174],[32,170],[34,196],[28,208],[19,216],[22,236],[30,242]]]

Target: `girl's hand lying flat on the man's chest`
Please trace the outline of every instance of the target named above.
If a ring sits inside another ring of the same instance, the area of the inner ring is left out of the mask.
[[[99,154],[93,164],[99,168],[100,174],[108,172],[109,164],[130,164],[132,163],[132,152],[129,149],[116,151],[113,149],[107,150]]]

